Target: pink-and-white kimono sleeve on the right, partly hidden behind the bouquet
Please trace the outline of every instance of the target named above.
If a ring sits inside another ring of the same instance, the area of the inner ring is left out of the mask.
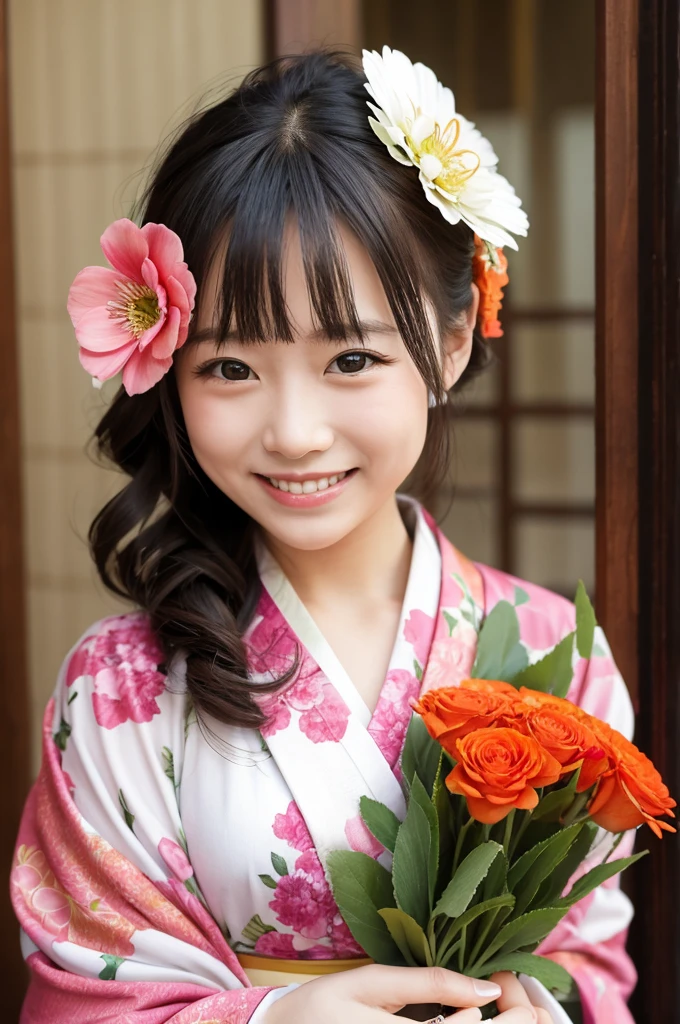
[[[569,698],[632,739],[633,707],[600,627],[595,631],[592,656],[576,668]],[[582,872],[604,858],[612,839],[600,830]],[[628,856],[634,840],[635,833],[627,833],[617,856]],[[637,975],[626,952],[632,918],[631,901],[617,876],[571,907],[537,950],[572,975],[588,1024],[633,1024],[627,1000]]]

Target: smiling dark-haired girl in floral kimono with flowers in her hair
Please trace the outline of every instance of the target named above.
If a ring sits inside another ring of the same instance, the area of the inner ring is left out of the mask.
[[[501,1024],[568,1020],[532,979],[367,965],[324,870],[382,852],[359,798],[403,813],[411,701],[469,675],[496,602],[533,658],[575,623],[397,493],[447,466],[448,392],[486,361],[527,225],[431,71],[387,48],[364,69],[249,75],[176,138],[144,226],[107,229],[113,269],[72,288],[83,366],[123,372],[96,438],[129,482],[90,543],[135,610],[78,640],[47,709],[11,878],[27,1024],[378,1024],[427,1002],[470,1024],[494,999]],[[569,696],[630,735],[596,650]],[[590,1024],[631,1021],[630,916],[607,885],[541,950]]]

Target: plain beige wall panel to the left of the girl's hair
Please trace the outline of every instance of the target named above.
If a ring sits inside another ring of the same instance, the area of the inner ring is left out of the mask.
[[[84,538],[120,477],[84,454],[111,391],[81,369],[69,286],[104,263],[160,140],[262,59],[259,0],[10,0],[15,245],[34,764],[58,666],[122,607]],[[113,384],[114,382],[112,382]]]

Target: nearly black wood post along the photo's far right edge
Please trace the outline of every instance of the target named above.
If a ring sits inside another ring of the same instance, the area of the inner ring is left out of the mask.
[[[640,0],[638,741],[680,799],[680,6]],[[640,844],[641,845],[641,844]],[[631,950],[640,1024],[680,1008],[680,838],[645,837]]]

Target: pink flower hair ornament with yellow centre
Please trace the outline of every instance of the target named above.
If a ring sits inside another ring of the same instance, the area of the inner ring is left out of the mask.
[[[124,217],[100,242],[111,267],[86,266],[69,290],[80,361],[95,387],[122,370],[127,393],[141,394],[186,341],[196,281],[179,237],[165,224],[138,227]]]

